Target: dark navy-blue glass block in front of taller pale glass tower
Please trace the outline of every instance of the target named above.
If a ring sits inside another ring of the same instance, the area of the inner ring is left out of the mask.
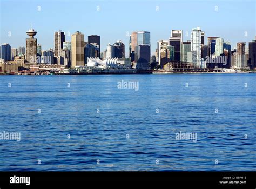
[[[138,45],[135,49],[137,61],[136,69],[150,69],[150,45]]]

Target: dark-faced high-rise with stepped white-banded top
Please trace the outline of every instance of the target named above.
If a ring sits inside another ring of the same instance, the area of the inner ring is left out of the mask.
[[[181,61],[182,30],[172,30],[169,45],[174,46],[174,60]]]

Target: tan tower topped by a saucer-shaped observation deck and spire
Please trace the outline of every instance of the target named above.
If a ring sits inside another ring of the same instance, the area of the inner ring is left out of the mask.
[[[36,34],[37,32],[32,29],[32,26],[26,32],[26,35],[29,36],[26,38],[26,60],[30,63],[37,63],[37,39],[34,38]]]

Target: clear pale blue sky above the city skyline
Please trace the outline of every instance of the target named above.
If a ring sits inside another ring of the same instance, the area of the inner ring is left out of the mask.
[[[107,44],[122,40],[128,56],[131,31],[150,31],[152,54],[157,40],[168,39],[171,30],[183,30],[183,41],[190,40],[197,26],[205,36],[223,37],[232,48],[237,42],[248,42],[256,35],[256,1],[82,1],[82,0],[0,0],[0,43],[12,48],[25,46],[30,23],[37,31],[42,50],[54,47],[53,33],[80,31],[87,36],[100,35],[101,50]],[[39,7],[40,6],[40,7]],[[186,36],[186,32],[188,36]],[[205,40],[206,41],[206,40]]]

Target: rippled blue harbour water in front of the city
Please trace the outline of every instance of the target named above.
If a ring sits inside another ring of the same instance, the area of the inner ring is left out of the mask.
[[[20,142],[0,140],[0,170],[256,171],[255,79],[0,76],[0,132],[21,132]],[[139,90],[118,89],[121,80]],[[197,142],[176,140],[180,131]]]

